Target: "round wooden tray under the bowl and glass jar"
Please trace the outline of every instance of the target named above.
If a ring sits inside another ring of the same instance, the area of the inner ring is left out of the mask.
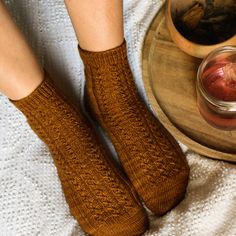
[[[195,81],[201,61],[173,43],[165,25],[164,7],[147,32],[142,60],[148,99],[169,132],[202,155],[236,162],[236,131],[216,129],[199,114]]]

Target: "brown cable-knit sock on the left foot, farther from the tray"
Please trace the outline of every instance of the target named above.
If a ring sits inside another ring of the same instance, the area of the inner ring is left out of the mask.
[[[147,216],[134,189],[116,170],[85,117],[45,79],[13,101],[48,145],[72,215],[90,235],[134,236]]]

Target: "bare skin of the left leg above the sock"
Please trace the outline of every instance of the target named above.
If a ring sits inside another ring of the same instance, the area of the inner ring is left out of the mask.
[[[0,22],[0,92],[18,100],[42,82],[43,70],[2,1]]]

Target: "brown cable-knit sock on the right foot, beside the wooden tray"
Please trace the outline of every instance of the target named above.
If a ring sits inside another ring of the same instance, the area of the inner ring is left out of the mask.
[[[147,207],[164,214],[184,197],[188,183],[189,167],[180,147],[141,101],[125,42],[105,52],[79,50],[93,115]]]

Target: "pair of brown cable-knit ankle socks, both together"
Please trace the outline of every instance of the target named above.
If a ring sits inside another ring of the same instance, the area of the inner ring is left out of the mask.
[[[90,109],[112,140],[129,180],[116,169],[82,112],[49,78],[13,103],[48,145],[72,215],[90,235],[134,236],[148,227],[145,210],[162,215],[186,190],[189,168],[173,137],[141,101],[125,42],[105,52],[80,49]]]

